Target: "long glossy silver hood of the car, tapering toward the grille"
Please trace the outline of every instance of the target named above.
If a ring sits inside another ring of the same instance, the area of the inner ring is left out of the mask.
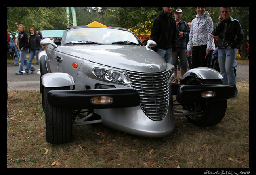
[[[128,71],[160,72],[167,67],[162,56],[144,46],[72,45],[60,46],[59,52]]]

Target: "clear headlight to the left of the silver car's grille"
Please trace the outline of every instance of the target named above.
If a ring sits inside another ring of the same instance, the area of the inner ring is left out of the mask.
[[[115,83],[130,84],[128,76],[124,71],[108,70],[103,68],[94,67],[92,73],[101,79],[112,81]]]

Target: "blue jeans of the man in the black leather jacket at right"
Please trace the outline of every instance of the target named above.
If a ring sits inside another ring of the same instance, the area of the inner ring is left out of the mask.
[[[236,49],[218,49],[218,61],[220,67],[220,73],[223,76],[224,84],[234,84],[236,86],[234,62],[236,57]],[[237,96],[238,90],[236,89],[235,96]]]

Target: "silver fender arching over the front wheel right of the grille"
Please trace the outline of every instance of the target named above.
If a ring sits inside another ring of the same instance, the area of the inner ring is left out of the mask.
[[[183,75],[181,80],[184,80],[186,77],[189,76],[200,79],[223,79],[222,75],[218,71],[208,67],[198,67],[190,69]]]

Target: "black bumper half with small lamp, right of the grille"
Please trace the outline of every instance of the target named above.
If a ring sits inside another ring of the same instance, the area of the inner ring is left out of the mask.
[[[200,103],[218,100],[226,100],[235,95],[236,87],[233,84],[213,85],[178,85],[172,84],[172,94],[177,95],[176,100],[181,104]],[[214,97],[202,97],[202,92],[214,91]]]

